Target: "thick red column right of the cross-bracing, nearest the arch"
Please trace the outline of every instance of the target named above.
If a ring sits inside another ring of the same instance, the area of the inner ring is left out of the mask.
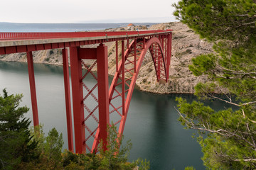
[[[107,126],[110,125],[107,46],[97,47],[97,83],[99,99],[100,140],[107,149]]]

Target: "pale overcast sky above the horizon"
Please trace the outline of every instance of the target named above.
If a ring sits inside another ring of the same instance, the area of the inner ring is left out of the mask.
[[[0,22],[166,23],[179,0],[2,0]]]

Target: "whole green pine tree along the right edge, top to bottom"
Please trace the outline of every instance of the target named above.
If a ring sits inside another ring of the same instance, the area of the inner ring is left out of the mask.
[[[256,167],[256,4],[252,0],[181,0],[174,15],[215,52],[193,59],[190,70],[210,79],[196,95],[225,101],[237,109],[213,111],[203,103],[178,98],[180,121],[198,130],[203,162],[208,169]],[[215,95],[222,90],[223,96]]]

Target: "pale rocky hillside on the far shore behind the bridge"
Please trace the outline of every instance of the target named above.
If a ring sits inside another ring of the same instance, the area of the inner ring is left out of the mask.
[[[147,52],[142,67],[139,70],[139,77],[136,81],[137,87],[142,91],[149,91],[157,94],[193,94],[193,87],[199,81],[207,81],[207,78],[204,76],[193,76],[192,72],[188,69],[188,65],[191,64],[191,59],[193,57],[213,52],[212,45],[205,40],[201,40],[199,35],[193,33],[193,30],[183,23],[161,23],[151,26],[149,29],[173,30],[169,82],[156,82],[154,64],[151,60],[150,53]],[[105,45],[108,47],[109,74],[114,75],[115,43],[107,42]],[[120,45],[119,50],[121,50]],[[97,45],[89,45],[87,47],[97,47]],[[36,51],[33,52],[33,62],[62,65],[63,61],[61,53],[61,49]],[[0,60],[26,62],[26,53],[0,55]],[[90,66],[93,62],[94,61],[89,60],[86,61],[86,64]],[[96,71],[96,68],[93,70]]]

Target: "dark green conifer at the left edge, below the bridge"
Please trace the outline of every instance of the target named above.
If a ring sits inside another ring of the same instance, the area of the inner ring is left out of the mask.
[[[22,94],[0,96],[0,169],[15,169],[21,162],[36,159],[36,142],[31,141],[28,126],[31,121],[24,118],[26,106],[18,107]]]

